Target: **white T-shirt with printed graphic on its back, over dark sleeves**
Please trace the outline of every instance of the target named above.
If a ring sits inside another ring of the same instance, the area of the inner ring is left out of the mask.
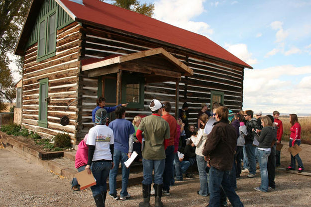
[[[111,160],[109,145],[114,143],[113,131],[106,125],[96,125],[89,131],[87,144],[95,145],[92,161]]]

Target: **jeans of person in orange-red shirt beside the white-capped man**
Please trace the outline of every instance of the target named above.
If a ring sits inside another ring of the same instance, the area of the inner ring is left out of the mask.
[[[174,178],[174,145],[168,146],[165,150],[165,168],[163,172],[163,190],[169,191],[171,181]]]

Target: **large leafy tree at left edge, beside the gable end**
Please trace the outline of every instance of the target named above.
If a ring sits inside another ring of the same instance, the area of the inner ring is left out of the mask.
[[[30,1],[0,0],[0,110],[4,107],[4,101],[12,102],[15,98],[12,73],[8,66],[11,60],[7,55],[14,52]]]

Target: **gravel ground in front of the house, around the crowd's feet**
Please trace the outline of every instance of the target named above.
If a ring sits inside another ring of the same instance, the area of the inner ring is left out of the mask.
[[[300,153],[305,171],[311,171],[311,146],[301,145]],[[289,164],[288,147],[282,149],[281,167]],[[0,206],[2,207],[95,207],[90,189],[82,192],[70,190],[70,181],[55,175],[44,167],[15,152],[0,147]],[[241,174],[237,180],[239,195],[245,207],[311,207],[311,176],[277,171],[276,190],[261,193],[253,190],[260,185],[259,171],[255,178]],[[208,197],[197,195],[199,176],[185,178],[171,187],[171,195],[162,197],[165,207],[205,207]],[[142,201],[141,185],[128,188],[131,198],[113,201],[107,197],[107,207],[137,207]],[[119,189],[118,189],[119,193]],[[151,199],[154,206],[154,199]],[[231,206],[228,202],[228,206]]]

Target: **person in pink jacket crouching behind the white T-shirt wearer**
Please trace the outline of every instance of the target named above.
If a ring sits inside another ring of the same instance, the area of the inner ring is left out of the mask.
[[[76,152],[75,167],[77,168],[78,172],[84,171],[85,167],[88,164],[89,147],[86,144],[87,139],[88,139],[88,134],[86,134],[84,139],[79,143],[78,149]],[[76,178],[73,178],[71,181],[71,189],[73,191],[80,191],[80,186]]]

